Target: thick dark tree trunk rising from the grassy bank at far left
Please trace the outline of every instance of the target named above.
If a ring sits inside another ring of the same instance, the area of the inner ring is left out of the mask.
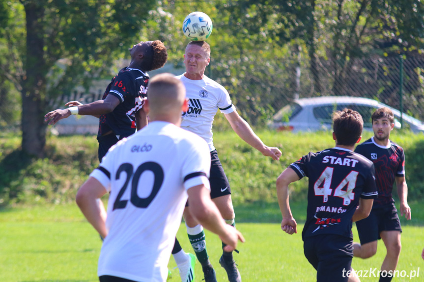
[[[27,19],[27,58],[26,75],[22,79],[22,149],[38,157],[43,156],[46,144],[44,4],[44,1],[39,0],[24,2]]]

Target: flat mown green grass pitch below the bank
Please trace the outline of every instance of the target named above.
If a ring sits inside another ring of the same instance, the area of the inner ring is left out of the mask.
[[[419,203],[412,206],[415,220],[403,224],[402,252],[397,269],[409,275],[420,268],[419,277],[397,278],[393,281],[424,281],[423,211]],[[304,204],[292,204],[298,222],[305,217]],[[287,235],[280,229],[280,211],[276,204],[236,206],[236,226],[243,232],[246,243],[240,244],[240,254],[234,254],[243,282],[313,282],[315,270],[303,255],[299,224],[298,234]],[[355,239],[358,236],[353,228]],[[184,224],[178,231],[183,249],[192,251]],[[206,231],[207,248],[218,281],[227,281],[218,263],[221,256],[219,238]],[[85,221],[76,205],[45,205],[0,210],[0,281],[1,282],[95,282],[97,258],[101,241]],[[353,259],[356,270],[380,268],[385,256],[382,242],[377,255],[363,260]],[[179,282],[178,270],[170,258],[170,282]],[[203,279],[197,263],[196,281]],[[378,281],[362,278],[361,281]]]

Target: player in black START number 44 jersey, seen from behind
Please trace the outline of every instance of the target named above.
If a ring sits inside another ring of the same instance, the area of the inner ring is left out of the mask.
[[[361,140],[363,120],[351,109],[333,117],[336,147],[309,153],[295,161],[277,179],[281,228],[297,233],[288,200],[288,185],[309,178],[308,208],[302,232],[306,258],[317,270],[317,282],[358,282],[351,269],[352,222],[366,218],[377,197],[374,165],[352,152]]]

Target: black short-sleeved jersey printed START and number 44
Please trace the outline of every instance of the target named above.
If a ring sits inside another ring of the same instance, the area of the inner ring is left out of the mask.
[[[359,198],[377,197],[374,165],[343,148],[309,153],[289,166],[309,178],[308,208],[302,238],[339,234],[353,238],[352,216]]]

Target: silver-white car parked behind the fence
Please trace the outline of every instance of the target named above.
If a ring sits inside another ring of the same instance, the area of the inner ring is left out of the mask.
[[[398,110],[375,100],[348,96],[295,99],[273,116],[273,121],[269,123],[269,126],[277,130],[293,132],[331,130],[333,112],[350,108],[362,115],[364,129],[372,130],[371,115],[381,107],[388,107],[393,111],[395,128],[400,128],[400,112]],[[402,114],[402,120],[404,128],[409,128],[413,132],[424,132],[424,124],[421,121],[405,113]]]

